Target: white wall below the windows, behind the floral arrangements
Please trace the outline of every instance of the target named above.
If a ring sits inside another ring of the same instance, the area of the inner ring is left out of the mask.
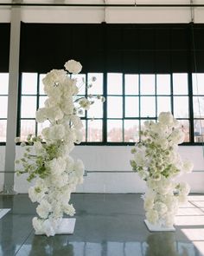
[[[84,183],[77,188],[82,193],[141,193],[145,183],[131,171],[131,146],[77,146],[73,149],[74,159],[84,161],[88,173]],[[181,146],[182,159],[194,162],[194,172],[179,178],[188,181],[192,193],[204,193],[204,158],[201,146]],[[22,155],[22,148],[16,147],[16,158]],[[124,173],[118,173],[124,171]],[[129,171],[129,172],[127,172]],[[126,173],[125,173],[126,172]],[[26,175],[16,177],[15,189],[18,193],[27,193],[30,183]]]

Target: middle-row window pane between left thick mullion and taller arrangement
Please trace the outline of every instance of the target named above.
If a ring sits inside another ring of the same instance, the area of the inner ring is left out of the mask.
[[[22,96],[22,118],[35,118],[36,112],[36,97]]]

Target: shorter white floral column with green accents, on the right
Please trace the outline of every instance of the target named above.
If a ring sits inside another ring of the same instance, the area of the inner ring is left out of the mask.
[[[131,150],[131,167],[146,181],[143,200],[150,224],[173,226],[179,204],[188,200],[188,184],[175,182],[176,176],[193,169],[193,164],[182,161],[178,153],[184,136],[179,121],[171,113],[162,112],[157,122],[144,122],[141,141]]]

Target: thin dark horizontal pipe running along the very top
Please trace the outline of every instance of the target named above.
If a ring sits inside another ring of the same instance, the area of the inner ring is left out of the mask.
[[[165,7],[165,8],[192,8],[192,7],[204,7],[204,4],[131,4],[131,3],[0,3],[0,6],[65,6],[65,7],[150,7],[150,8],[158,8],[158,7]]]

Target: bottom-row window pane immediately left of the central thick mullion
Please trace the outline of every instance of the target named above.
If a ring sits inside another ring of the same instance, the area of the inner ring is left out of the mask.
[[[102,121],[88,120],[87,141],[102,141]]]

